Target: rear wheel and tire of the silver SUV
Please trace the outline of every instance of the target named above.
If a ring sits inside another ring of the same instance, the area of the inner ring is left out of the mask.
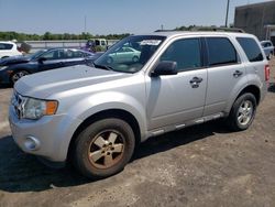
[[[255,118],[256,107],[256,98],[253,94],[246,92],[238,97],[227,118],[228,128],[231,131],[246,130]]]

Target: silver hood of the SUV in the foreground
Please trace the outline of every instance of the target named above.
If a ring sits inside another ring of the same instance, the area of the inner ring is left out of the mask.
[[[58,92],[90,87],[129,76],[131,74],[77,65],[24,76],[15,84],[14,89],[23,96],[45,99]]]

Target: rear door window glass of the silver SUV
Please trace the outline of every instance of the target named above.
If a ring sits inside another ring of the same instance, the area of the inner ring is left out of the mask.
[[[232,43],[226,37],[208,37],[209,65],[227,65],[238,63],[238,55]]]

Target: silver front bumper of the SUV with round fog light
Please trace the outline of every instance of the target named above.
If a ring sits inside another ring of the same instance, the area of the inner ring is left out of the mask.
[[[19,119],[13,106],[9,109],[9,121],[20,149],[57,163],[66,162],[70,139],[81,123],[67,115],[45,116],[40,120]]]

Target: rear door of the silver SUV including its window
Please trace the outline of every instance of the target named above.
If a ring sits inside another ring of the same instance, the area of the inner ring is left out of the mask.
[[[208,51],[208,86],[204,116],[224,111],[231,97],[238,92],[238,83],[245,78],[245,66],[230,39],[206,37]],[[245,84],[245,80],[244,80]]]

